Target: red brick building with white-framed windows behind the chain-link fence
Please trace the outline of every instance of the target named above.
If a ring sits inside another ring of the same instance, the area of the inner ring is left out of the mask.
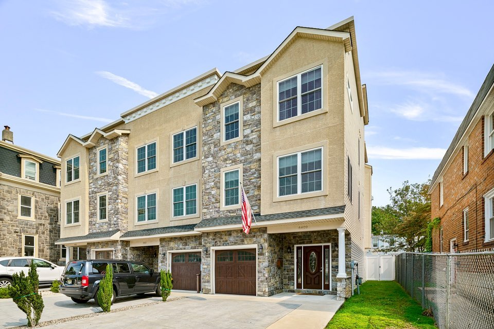
[[[494,66],[432,178],[434,252],[494,247]]]

